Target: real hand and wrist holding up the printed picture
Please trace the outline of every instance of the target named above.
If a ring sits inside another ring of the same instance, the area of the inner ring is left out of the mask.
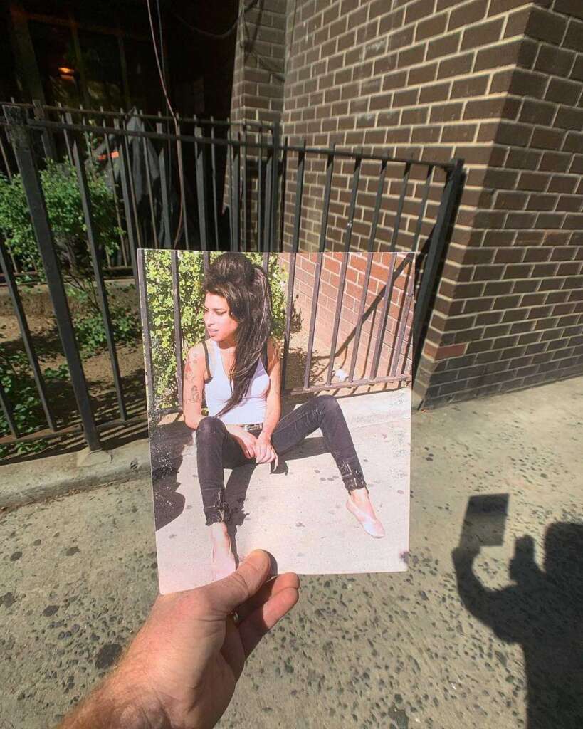
[[[255,550],[224,580],[158,596],[114,674],[60,729],[214,727],[246,658],[298,600],[297,574],[266,582],[269,569]]]

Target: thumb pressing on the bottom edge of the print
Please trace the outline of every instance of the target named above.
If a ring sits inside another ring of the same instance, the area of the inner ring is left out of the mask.
[[[254,595],[263,585],[270,571],[270,558],[263,550],[254,550],[239,565],[236,572],[223,580],[212,582],[205,588],[215,609],[225,616]]]

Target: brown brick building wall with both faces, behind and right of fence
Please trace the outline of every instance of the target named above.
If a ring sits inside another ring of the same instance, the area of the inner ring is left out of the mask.
[[[425,405],[580,373],[582,3],[298,0],[286,30],[291,141],[466,160],[416,381]],[[321,218],[318,164],[307,173],[308,249]],[[348,181],[350,170],[339,174]],[[399,174],[388,182],[393,196]],[[345,229],[348,182],[337,187],[329,246]],[[418,198],[415,182],[410,194]],[[356,246],[367,234],[361,222]]]

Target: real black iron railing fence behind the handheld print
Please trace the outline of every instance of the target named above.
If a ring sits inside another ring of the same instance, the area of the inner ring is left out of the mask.
[[[114,114],[4,104],[0,122],[5,174],[20,175],[50,293],[60,343],[69,365],[77,422],[55,426],[43,367],[35,351],[19,293],[17,253],[2,241],[4,284],[17,315],[47,427],[19,432],[18,403],[0,382],[0,405],[10,435],[1,442],[82,432],[91,450],[100,432],[132,421],[111,325],[108,278],[120,267],[137,279],[140,248],[264,252],[360,250],[412,252],[415,319],[412,348],[420,351],[437,285],[463,160],[423,162],[334,147],[308,147],[281,139],[277,125],[216,122],[161,115]],[[95,417],[66,291],[63,260],[55,246],[39,170],[48,160],[74,170],[119,416]],[[107,175],[116,201],[120,245],[106,254],[95,235],[87,176],[95,165]],[[293,258],[292,258],[293,260]],[[292,264],[293,265],[293,264]],[[293,272],[291,279],[293,280]],[[319,285],[319,284],[318,284]],[[388,290],[388,287],[387,287]],[[317,305],[318,296],[314,299]],[[313,346],[313,338],[310,347]],[[308,347],[308,351],[310,350]],[[331,382],[324,383],[327,386]],[[310,389],[304,383],[304,390]]]

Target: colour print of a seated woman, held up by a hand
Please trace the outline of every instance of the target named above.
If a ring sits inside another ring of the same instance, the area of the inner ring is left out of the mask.
[[[139,261],[160,592],[406,569],[412,256]]]

